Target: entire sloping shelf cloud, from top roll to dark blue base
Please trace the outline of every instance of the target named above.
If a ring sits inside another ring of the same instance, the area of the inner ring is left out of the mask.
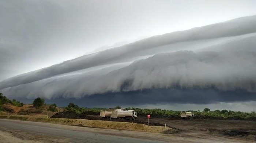
[[[86,55],[4,80],[0,92],[98,104],[255,100],[255,21],[233,20],[230,27],[209,25]]]

